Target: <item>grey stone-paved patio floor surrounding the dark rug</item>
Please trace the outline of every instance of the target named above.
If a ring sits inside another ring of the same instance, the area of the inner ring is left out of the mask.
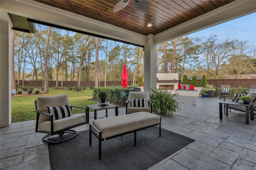
[[[219,102],[223,99],[190,96],[180,96],[180,99],[184,103],[181,111],[171,117],[161,115],[161,126],[196,141],[150,170],[255,169],[256,120],[246,124],[245,114],[234,110],[232,112],[242,114],[223,115],[223,119],[219,119]],[[105,110],[98,111],[99,117],[105,114]],[[118,108],[118,115],[125,114],[125,107]],[[108,115],[115,116],[115,109],[109,109]],[[90,117],[93,116],[94,112],[90,112]],[[92,120],[94,118],[90,118],[90,122]],[[50,169],[48,144],[42,141],[45,134],[35,133],[35,126],[36,120],[33,120],[0,129],[1,169]],[[88,129],[89,124],[74,128],[75,131]]]

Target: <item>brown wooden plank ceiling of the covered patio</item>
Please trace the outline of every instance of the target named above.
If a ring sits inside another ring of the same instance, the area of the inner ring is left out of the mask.
[[[137,10],[133,0],[119,12],[112,11],[119,0],[36,1],[143,35],[156,35],[234,0],[147,0],[148,12]],[[148,23],[153,26],[147,27]]]

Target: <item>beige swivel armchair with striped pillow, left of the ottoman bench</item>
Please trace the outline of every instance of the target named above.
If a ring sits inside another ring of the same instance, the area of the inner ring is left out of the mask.
[[[72,128],[89,123],[88,107],[70,106],[68,95],[39,97],[35,105],[36,132],[48,134],[42,137],[44,142],[51,144],[65,142],[78,135],[78,132],[71,130]],[[72,115],[72,107],[84,109],[85,115]],[[64,135],[65,133],[68,134]],[[56,139],[49,139],[52,137]]]

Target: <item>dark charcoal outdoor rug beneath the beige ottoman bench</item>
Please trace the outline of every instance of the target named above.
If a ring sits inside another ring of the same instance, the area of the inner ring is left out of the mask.
[[[102,157],[98,159],[98,139],[89,130],[67,142],[48,144],[51,170],[146,170],[192,143],[194,139],[177,133],[150,127],[134,133],[102,141]]]

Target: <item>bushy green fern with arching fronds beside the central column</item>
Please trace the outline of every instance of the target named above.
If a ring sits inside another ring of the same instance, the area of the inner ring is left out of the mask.
[[[150,95],[150,101],[153,103],[152,107],[155,109],[155,112],[160,112],[165,115],[172,115],[173,113],[180,111],[180,106],[182,102],[178,94],[171,94],[168,90],[160,90],[159,88],[155,90],[151,89],[153,94]]]

